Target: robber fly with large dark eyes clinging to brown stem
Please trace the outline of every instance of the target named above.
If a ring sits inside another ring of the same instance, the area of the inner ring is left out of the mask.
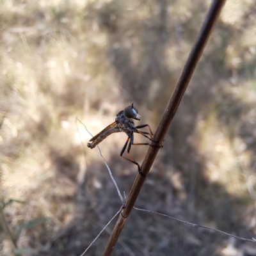
[[[138,109],[136,109],[133,106],[133,103],[131,106],[125,108],[124,110],[120,111],[116,115],[116,120],[112,124],[109,124],[104,130],[99,132],[97,135],[95,135],[88,143],[88,148],[95,148],[102,140],[106,139],[110,134],[114,132],[125,132],[128,136],[127,141],[125,142],[124,147],[121,150],[120,156],[131,163],[134,163],[138,166],[139,172],[140,172],[140,164],[131,156],[130,150],[131,145],[151,145],[150,143],[134,143],[134,132],[139,133],[143,135],[144,137],[148,138],[148,140],[152,141],[153,138],[153,132],[150,129],[150,126],[148,124],[143,125],[134,125],[133,120],[141,120],[141,116],[138,114]],[[139,129],[148,127],[150,132],[146,131],[140,131]],[[129,143],[129,145],[128,145]],[[128,148],[127,148],[128,145]],[[125,149],[127,148],[127,154],[129,158],[124,157],[123,154],[125,152]],[[141,172],[140,172],[141,173]]]

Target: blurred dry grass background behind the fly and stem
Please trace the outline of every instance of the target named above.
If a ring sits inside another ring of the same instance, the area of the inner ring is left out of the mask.
[[[211,1],[0,2],[1,200],[19,248],[81,255],[120,208],[93,133],[134,101],[153,131]],[[256,1],[228,0],[137,207],[256,236]],[[4,118],[4,119],[3,119]],[[100,144],[121,191],[137,168],[125,134]],[[144,140],[136,137],[137,141]],[[132,148],[140,163],[147,146]],[[114,223],[113,223],[114,225]],[[101,255],[111,225],[87,255]],[[0,225],[1,255],[12,246]],[[255,245],[132,212],[113,255],[256,255]]]

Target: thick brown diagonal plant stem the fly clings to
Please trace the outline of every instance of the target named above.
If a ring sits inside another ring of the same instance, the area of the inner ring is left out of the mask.
[[[156,146],[161,145],[162,141],[164,140],[164,136],[166,135],[166,132],[170,127],[173,116],[175,115],[177,108],[179,107],[180,101],[182,100],[186,88],[188,87],[189,81],[193,75],[200,56],[202,55],[202,52],[204,51],[204,47],[207,44],[209,36],[211,35],[212,28],[220,15],[221,8],[223,7],[224,3],[225,0],[212,1],[209,11],[205,17],[204,23],[202,24],[202,28],[200,29],[200,32],[198,33],[198,36],[196,38],[196,42],[193,45],[188,60],[182,70],[182,73],[180,74],[179,80],[163,113],[160,124],[157,127],[156,134],[154,135],[154,141],[156,142],[153,143]],[[141,165],[141,172],[144,175],[147,175],[150,171],[150,168],[154,163],[158,150],[159,147],[148,148],[147,155],[145,156],[145,159]],[[127,203],[124,209],[122,209],[118,220],[116,221],[116,225],[113,229],[113,232],[111,233],[111,236],[109,237],[108,244],[106,245],[106,248],[102,255],[108,256],[111,255],[111,253],[113,252],[118,237],[120,236],[129,215],[131,214],[132,208],[134,207],[134,204],[138,198],[144,182],[145,178],[143,178],[142,175],[138,173],[134,184],[132,185],[131,192],[127,198]]]

